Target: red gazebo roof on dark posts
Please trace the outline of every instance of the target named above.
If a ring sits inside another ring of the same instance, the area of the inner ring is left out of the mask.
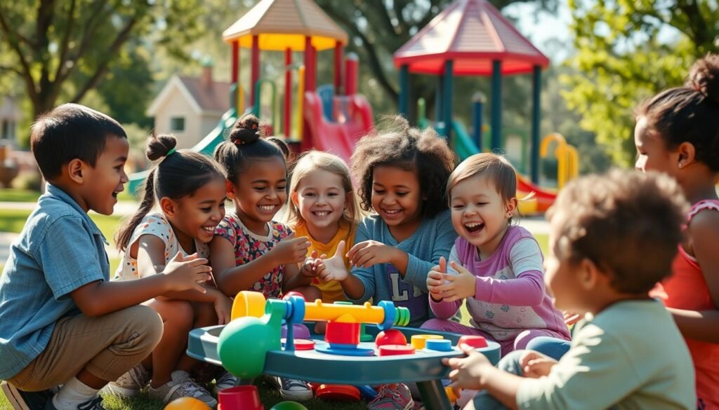
[[[394,54],[410,73],[441,75],[454,61],[454,75],[491,75],[493,60],[502,74],[531,73],[549,58],[523,37],[487,0],[457,0],[434,17]]]

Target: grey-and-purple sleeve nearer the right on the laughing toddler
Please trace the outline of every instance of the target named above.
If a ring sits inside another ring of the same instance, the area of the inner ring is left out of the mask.
[[[495,279],[477,277],[475,299],[510,306],[538,306],[544,300],[542,254],[534,238],[517,241],[509,253],[516,277]]]

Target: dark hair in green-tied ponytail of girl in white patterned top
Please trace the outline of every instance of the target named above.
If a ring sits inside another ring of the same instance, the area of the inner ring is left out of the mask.
[[[219,164],[203,154],[189,149],[180,149],[170,153],[177,146],[175,136],[154,133],[145,143],[145,155],[150,161],[162,159],[150,171],[142,188],[142,202],[132,218],[120,228],[115,243],[122,251],[127,250],[130,238],[142,218],[155,206],[155,198],[168,197],[179,200],[182,197],[192,196],[207,182],[214,178],[224,180],[225,174]]]

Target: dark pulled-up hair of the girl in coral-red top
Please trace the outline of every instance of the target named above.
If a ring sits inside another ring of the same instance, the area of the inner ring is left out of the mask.
[[[637,111],[668,149],[690,142],[697,161],[719,172],[719,55],[695,62],[684,87],[649,98]]]

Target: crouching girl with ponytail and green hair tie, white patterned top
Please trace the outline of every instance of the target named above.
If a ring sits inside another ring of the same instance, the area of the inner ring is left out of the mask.
[[[152,135],[145,152],[160,160],[145,182],[142,203],[119,231],[117,246],[124,251],[116,272],[118,280],[134,280],[162,272],[176,259],[207,258],[207,243],[224,217],[224,172],[211,159],[190,150],[177,150],[171,135]],[[159,212],[152,212],[155,205]],[[170,292],[145,302],[162,317],[162,339],[152,355],[110,383],[106,390],[134,396],[150,382],[150,397],[164,404],[193,397],[214,407],[217,401],[189,372],[198,363],[186,355],[187,335],[196,327],[229,322],[232,301],[209,284],[204,292]],[[218,388],[234,386],[237,379],[224,373]]]

